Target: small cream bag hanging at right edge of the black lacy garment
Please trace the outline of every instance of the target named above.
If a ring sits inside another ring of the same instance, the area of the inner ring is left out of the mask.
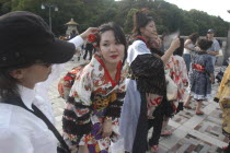
[[[169,76],[169,74],[165,74],[165,81],[166,81],[166,98],[168,101],[174,101],[177,98],[177,85],[174,83],[174,81]]]

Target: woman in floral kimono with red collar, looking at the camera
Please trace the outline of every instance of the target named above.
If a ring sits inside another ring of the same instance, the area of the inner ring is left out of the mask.
[[[119,137],[127,57],[122,27],[101,25],[96,45],[99,52],[77,73],[64,111],[64,137],[72,153],[107,153]]]

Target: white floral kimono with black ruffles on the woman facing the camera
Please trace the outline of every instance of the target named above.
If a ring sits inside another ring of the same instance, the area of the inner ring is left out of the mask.
[[[64,138],[72,153],[78,152],[79,145],[87,145],[90,153],[106,153],[111,141],[118,139],[124,81],[122,61],[117,64],[116,79],[112,80],[97,55],[77,74],[62,118]],[[113,133],[103,139],[99,131],[106,117],[112,118]]]

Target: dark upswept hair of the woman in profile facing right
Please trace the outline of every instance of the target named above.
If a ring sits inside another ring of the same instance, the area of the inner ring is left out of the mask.
[[[149,11],[147,9],[141,9],[134,14],[134,35],[140,35],[140,27],[145,27],[148,23],[153,21],[151,16],[148,16]]]

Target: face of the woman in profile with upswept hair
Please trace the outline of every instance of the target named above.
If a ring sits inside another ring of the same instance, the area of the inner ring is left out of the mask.
[[[154,22],[149,22],[145,27],[140,27],[141,35],[149,40],[152,36],[157,36],[158,32]]]

